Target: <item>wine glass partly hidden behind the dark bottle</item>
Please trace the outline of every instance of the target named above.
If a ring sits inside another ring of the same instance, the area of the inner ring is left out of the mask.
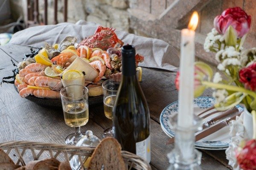
[[[120,82],[121,79],[108,79],[102,83],[104,113],[108,119],[112,119],[113,105],[116,100],[116,93],[118,91]],[[103,136],[113,136],[112,127],[105,129]]]

